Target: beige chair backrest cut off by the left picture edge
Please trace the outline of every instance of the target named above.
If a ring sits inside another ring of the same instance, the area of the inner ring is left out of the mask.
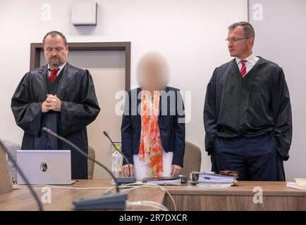
[[[0,194],[13,191],[13,184],[10,173],[8,172],[8,162],[6,161],[6,153],[4,145],[0,141]]]

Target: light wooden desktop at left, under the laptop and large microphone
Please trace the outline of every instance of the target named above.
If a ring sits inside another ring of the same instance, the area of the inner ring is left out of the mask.
[[[72,200],[75,198],[86,198],[90,196],[103,195],[106,187],[114,187],[110,181],[82,180],[68,186],[71,188],[105,187],[95,190],[71,190],[51,187],[51,203],[43,204],[44,210],[68,211],[74,210]],[[39,199],[42,198],[42,186],[35,186],[35,192]],[[148,191],[149,190],[149,191]],[[113,189],[112,191],[115,191]],[[151,200],[163,203],[164,192],[157,188],[137,188],[128,191],[129,201]],[[0,210],[37,210],[37,204],[27,187],[17,188],[10,193],[0,195]],[[127,210],[156,210],[152,207],[133,206]]]

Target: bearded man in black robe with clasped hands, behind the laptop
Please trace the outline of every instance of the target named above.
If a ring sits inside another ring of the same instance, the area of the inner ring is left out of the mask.
[[[21,148],[71,150],[72,179],[87,179],[87,159],[41,129],[48,127],[88,153],[86,127],[100,111],[92,77],[66,62],[68,44],[61,32],[47,33],[43,47],[48,64],[27,72],[11,101],[16,123],[25,131]]]

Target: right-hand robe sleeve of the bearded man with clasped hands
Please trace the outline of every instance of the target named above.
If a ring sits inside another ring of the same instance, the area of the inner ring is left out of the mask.
[[[68,136],[85,129],[99,114],[100,108],[94,91],[94,82],[90,72],[82,75],[80,80],[80,101],[61,101],[61,131]]]

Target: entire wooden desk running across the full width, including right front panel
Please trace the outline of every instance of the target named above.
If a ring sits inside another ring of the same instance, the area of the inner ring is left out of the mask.
[[[262,187],[263,203],[253,202],[254,187]],[[73,188],[111,187],[109,181],[83,180]],[[42,197],[42,187],[35,191]],[[286,182],[240,182],[228,189],[190,189],[185,186],[166,186],[176,201],[177,210],[306,210],[306,191],[286,187]],[[51,204],[44,204],[44,210],[74,210],[71,203],[75,198],[102,195],[106,189],[70,190],[51,188]],[[128,191],[128,200],[152,200],[164,203],[173,210],[169,195],[157,188],[138,188]],[[0,210],[37,210],[37,205],[27,188],[18,188],[0,195]],[[128,210],[154,210],[152,207],[129,207]]]

